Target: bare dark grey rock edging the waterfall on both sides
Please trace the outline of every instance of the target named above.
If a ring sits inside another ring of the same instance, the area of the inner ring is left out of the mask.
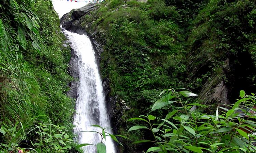
[[[100,55],[103,52],[104,38],[102,37],[104,34],[99,32],[89,33],[86,29],[81,26],[80,18],[86,14],[89,14],[90,11],[93,11],[97,8],[97,4],[89,3],[82,8],[74,9],[70,13],[63,15],[60,19],[60,24],[62,28],[78,33],[78,34],[86,34],[93,44],[93,48],[95,50],[95,57],[100,65]],[[77,98],[77,79],[79,78],[78,74],[78,61],[77,56],[74,50],[71,50],[71,59],[69,62],[69,73],[74,78],[74,81],[70,83],[70,90],[67,95],[72,98]],[[109,78],[103,78],[102,80],[103,92],[105,95],[105,103],[107,105],[108,115],[111,118],[112,128],[114,132],[117,134],[117,129],[119,128],[119,121],[122,118],[124,111],[129,110],[130,108],[126,105],[125,101],[118,98],[118,96],[110,96],[110,85]]]

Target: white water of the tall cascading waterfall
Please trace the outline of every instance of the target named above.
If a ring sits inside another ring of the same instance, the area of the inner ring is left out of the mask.
[[[91,125],[100,125],[103,128],[110,127],[110,121],[104,104],[103,88],[98,66],[95,59],[95,52],[90,39],[86,35],[64,30],[65,35],[71,41],[71,48],[76,52],[79,61],[79,86],[78,98],[76,101],[76,114],[74,116],[74,132],[78,132],[76,138],[79,144],[91,143],[97,145],[101,142],[101,136],[93,132],[100,128]],[[111,131],[109,131],[111,132]],[[103,140],[107,153],[115,153],[113,140],[108,136]],[[85,147],[88,153],[96,153],[95,146]]]

